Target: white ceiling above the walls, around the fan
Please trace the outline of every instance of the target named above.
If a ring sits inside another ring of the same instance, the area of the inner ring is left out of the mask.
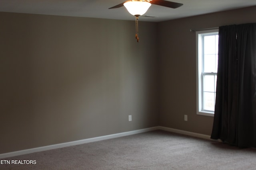
[[[78,16],[134,20],[125,7],[108,9],[125,0],[0,0],[0,12],[46,14],[57,16]],[[255,6],[256,0],[168,0],[184,4],[172,9],[152,4],[141,21],[166,21],[224,10]]]

